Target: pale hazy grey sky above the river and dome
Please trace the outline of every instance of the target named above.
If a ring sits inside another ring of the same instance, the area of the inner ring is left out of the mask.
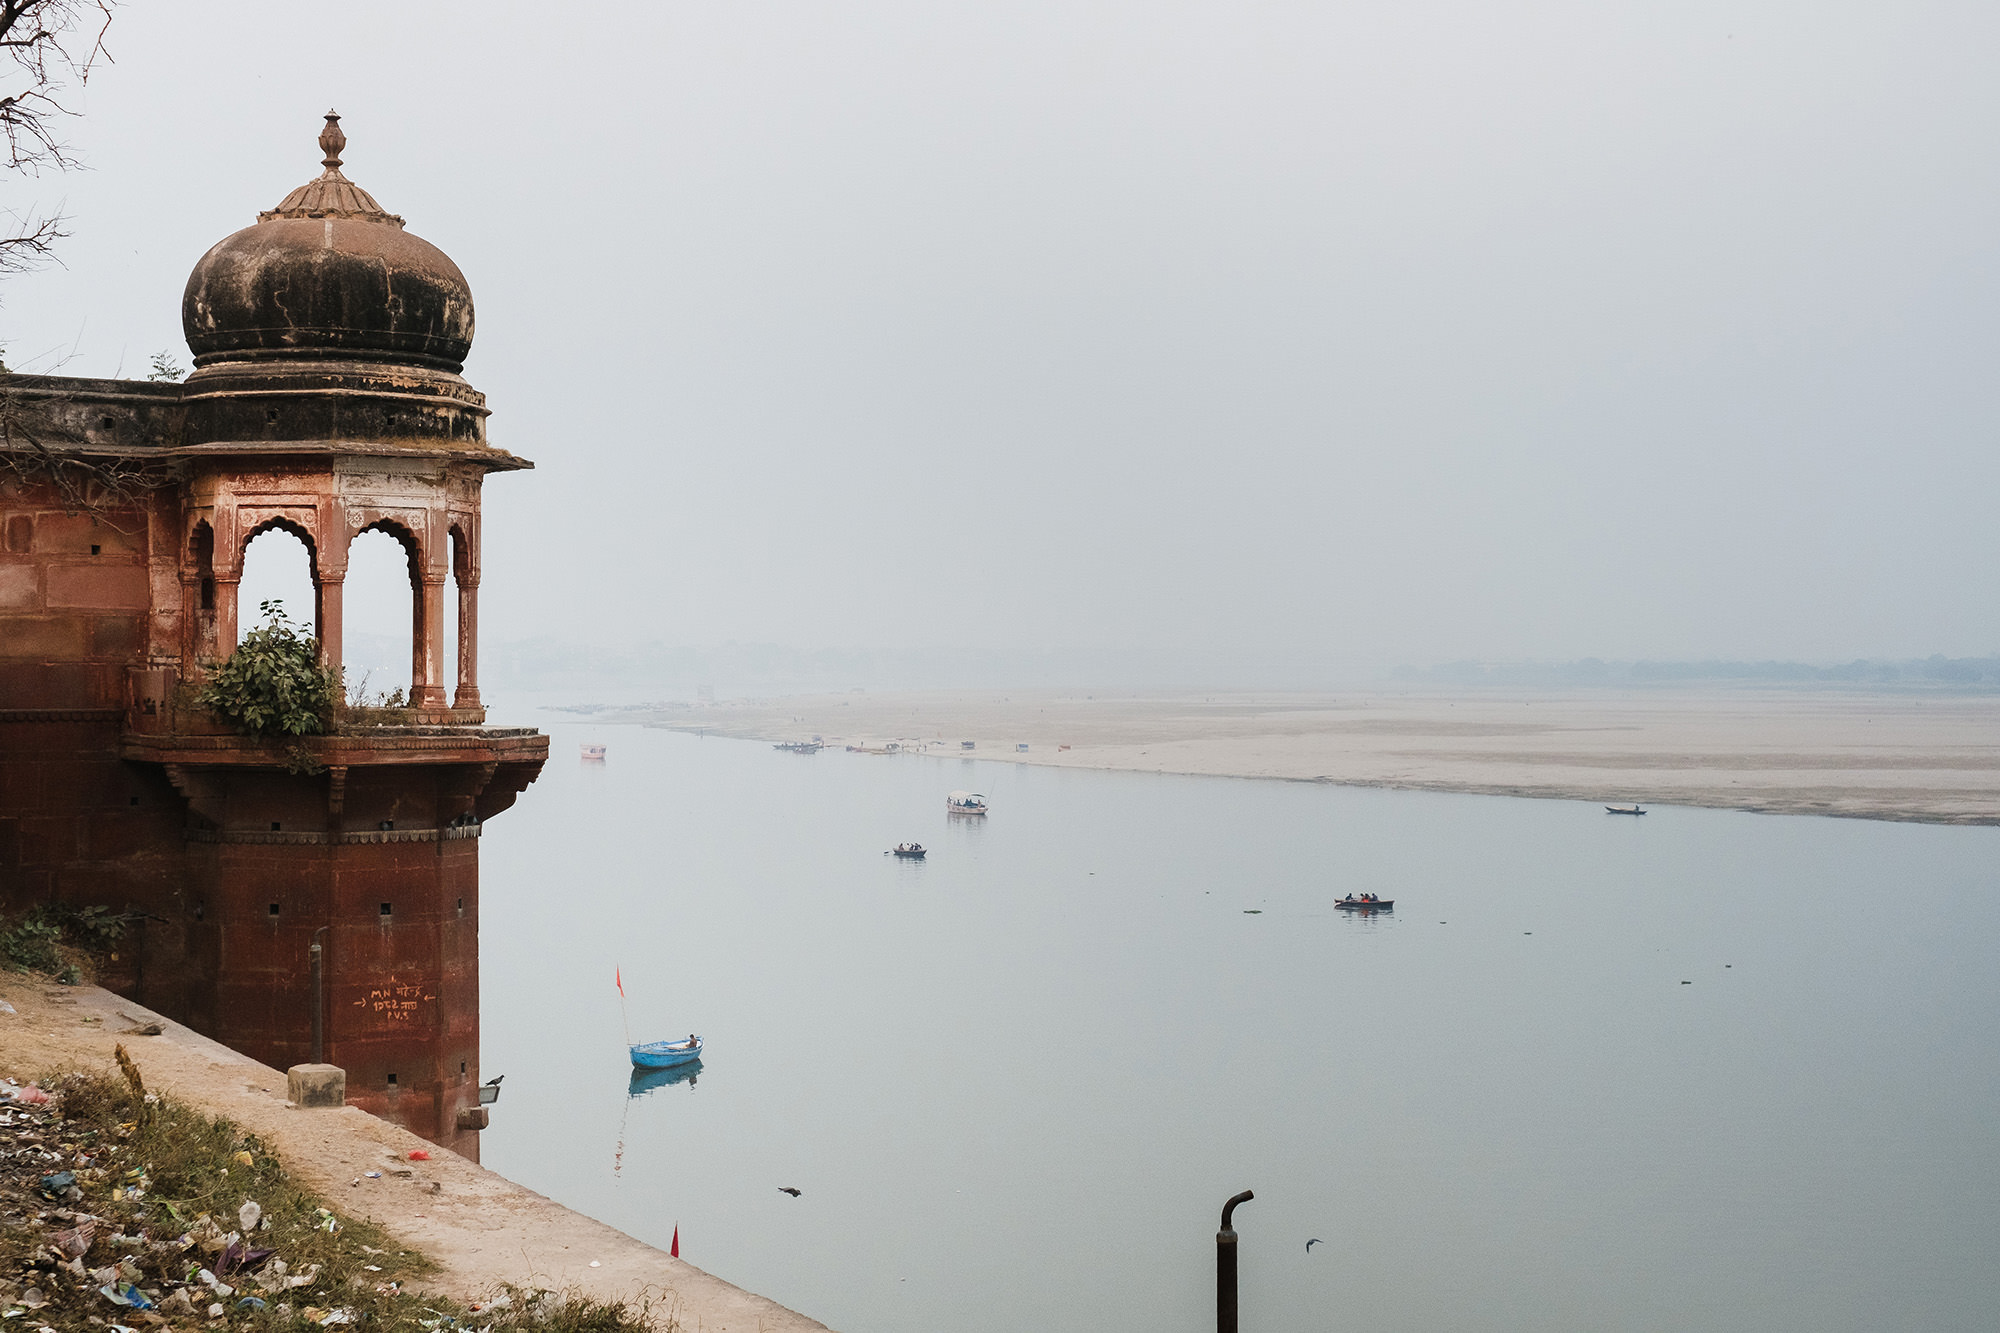
[[[540,464],[488,640],[2000,650],[2000,6],[134,0],[112,50],[10,364],[186,356],[336,106]]]

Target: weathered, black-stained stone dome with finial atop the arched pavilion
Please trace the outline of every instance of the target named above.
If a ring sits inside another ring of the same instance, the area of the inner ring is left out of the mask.
[[[340,174],[348,138],[326,114],[326,170],[188,274],[180,324],[196,366],[366,360],[456,374],[472,350],[472,288],[438,246]]]

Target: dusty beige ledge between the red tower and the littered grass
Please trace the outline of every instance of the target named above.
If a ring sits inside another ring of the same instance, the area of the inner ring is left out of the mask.
[[[0,1013],[0,1075],[34,1079],[62,1069],[116,1075],[112,1047],[122,1041],[148,1087],[262,1137],[336,1213],[374,1219],[436,1259],[442,1271],[424,1285],[460,1301],[514,1283],[650,1301],[662,1315],[658,1327],[682,1333],[826,1329],[364,1111],[298,1111],[286,1101],[284,1073],[110,991],[0,973],[0,999],[18,1011]],[[158,1021],[164,1031],[124,1035],[134,1019]],[[412,1149],[428,1149],[432,1161],[410,1163]],[[390,1165],[412,1175],[398,1177]],[[382,1179],[356,1185],[366,1171],[382,1171]]]

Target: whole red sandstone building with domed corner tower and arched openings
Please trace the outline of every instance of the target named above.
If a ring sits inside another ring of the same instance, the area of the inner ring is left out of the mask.
[[[476,1157],[478,839],[548,755],[484,725],[480,490],[532,464],[460,376],[466,276],[344,148],[328,112],[322,172],[196,262],[184,384],[0,374],[0,779],[34,793],[0,807],[0,909],[124,911],[106,985]],[[336,669],[352,542],[402,544],[406,709],[280,741],[194,705],[272,528]]]

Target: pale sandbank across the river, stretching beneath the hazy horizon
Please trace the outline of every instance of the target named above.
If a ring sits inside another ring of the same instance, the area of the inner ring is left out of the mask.
[[[980,759],[1076,769],[2000,825],[2000,697],[1982,695],[960,691],[602,717],[930,753],[972,741]]]

